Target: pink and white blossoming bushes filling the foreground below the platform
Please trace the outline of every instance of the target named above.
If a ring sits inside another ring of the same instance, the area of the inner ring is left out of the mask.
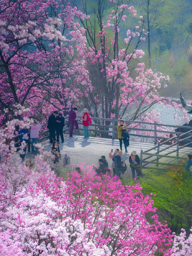
[[[41,156],[1,165],[1,255],[170,255],[170,229],[139,184],[81,170],[64,182]]]

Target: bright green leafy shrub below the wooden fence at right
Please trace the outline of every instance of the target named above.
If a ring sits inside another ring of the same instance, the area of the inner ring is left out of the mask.
[[[140,179],[144,194],[153,193],[154,206],[161,220],[167,220],[172,231],[180,228],[190,230],[192,224],[192,179],[184,172],[167,170],[167,175],[158,176],[158,171],[143,170]]]

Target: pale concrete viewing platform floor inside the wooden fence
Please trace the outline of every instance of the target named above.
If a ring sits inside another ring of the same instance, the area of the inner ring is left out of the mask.
[[[49,140],[41,142],[46,151],[50,151],[52,144],[49,144]],[[112,140],[110,138],[98,138],[98,137],[89,137],[89,139],[84,139],[82,136],[76,136],[70,138],[67,134],[64,134],[64,143],[60,143],[60,152],[61,159],[64,158],[64,154],[69,152],[70,164],[64,166],[64,170],[70,170],[73,164],[80,164],[85,162],[85,165],[95,164],[98,165],[98,159],[101,158],[101,155],[106,156],[106,160],[109,162],[109,167],[111,167],[112,160],[109,158],[109,153],[111,149],[113,152],[116,148],[119,148],[119,140]],[[122,159],[125,160],[128,165],[128,172],[130,173],[129,167],[129,155],[132,150],[136,150],[137,154],[140,156],[140,150],[143,151],[151,149],[154,146],[153,143],[142,143],[138,141],[130,141],[130,146],[128,147],[128,153],[125,152],[125,147],[123,145]],[[166,147],[163,145],[161,148]],[[161,152],[161,155],[168,151],[172,151],[176,147],[173,146],[170,149]],[[152,150],[150,153],[156,153],[156,150]],[[185,147],[179,151],[179,156],[185,157],[187,154],[192,152],[192,148]],[[176,153],[171,155],[176,156]]]

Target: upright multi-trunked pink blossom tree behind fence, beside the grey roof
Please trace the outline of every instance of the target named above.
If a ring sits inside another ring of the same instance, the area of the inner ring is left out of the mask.
[[[82,4],[87,13],[86,1]],[[100,115],[99,106],[103,118],[115,115],[116,119],[134,107],[136,111],[132,119],[136,119],[144,112],[145,106],[146,110],[152,104],[163,101],[158,92],[167,86],[169,77],[146,70],[144,63],[140,63],[144,55],[140,45],[148,33],[143,29],[142,16],[134,29],[127,29],[127,34],[122,35],[128,16],[135,17],[137,14],[134,7],[123,1],[98,1],[97,4],[98,8],[94,8],[92,16],[84,20],[79,17],[87,44],[83,48],[77,46],[78,56],[88,60],[90,69],[94,67],[96,74],[90,73],[90,80],[94,81],[94,75],[99,78],[97,86],[88,88],[83,100],[87,99],[96,116]],[[125,39],[124,48],[119,46],[120,38]]]

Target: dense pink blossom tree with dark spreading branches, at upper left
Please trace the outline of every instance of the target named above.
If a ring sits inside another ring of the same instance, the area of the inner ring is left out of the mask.
[[[85,15],[61,1],[1,0],[0,5],[1,123],[11,119],[4,109],[13,104],[29,107],[41,119],[53,109],[70,107],[79,94],[73,81],[87,81],[73,50],[73,41],[85,42],[74,17]]]

